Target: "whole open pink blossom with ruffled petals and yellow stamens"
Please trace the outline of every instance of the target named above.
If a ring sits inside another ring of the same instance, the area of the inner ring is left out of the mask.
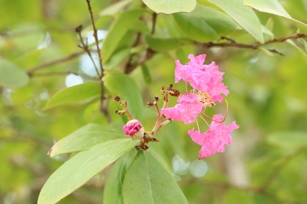
[[[185,124],[196,122],[198,125],[198,116],[203,118],[204,111],[207,107],[215,106],[215,101],[222,102],[224,94],[227,96],[229,91],[227,86],[222,83],[223,72],[219,71],[219,67],[212,62],[211,64],[203,64],[206,55],[189,55],[190,62],[183,65],[176,60],[175,82],[181,79],[185,82],[185,93],[178,98],[178,104],[172,108],[162,108],[161,113],[171,120],[180,120]],[[188,92],[188,82],[193,90]],[[208,117],[207,115],[205,115]],[[201,133],[198,130],[188,130],[188,135],[194,142],[201,145],[199,158],[203,159],[215,152],[224,152],[224,146],[232,142],[230,132],[239,128],[232,121],[230,125],[224,125],[222,115],[214,115],[212,123],[209,125],[207,132]]]

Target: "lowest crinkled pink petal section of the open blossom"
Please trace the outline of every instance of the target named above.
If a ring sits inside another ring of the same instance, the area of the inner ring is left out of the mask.
[[[222,120],[222,115],[213,115],[214,120]],[[199,159],[208,157],[215,152],[224,152],[225,145],[230,145],[232,143],[232,138],[230,132],[239,128],[232,121],[230,125],[224,125],[223,123],[217,123],[212,121],[210,128],[207,132],[200,133],[200,131],[188,130],[188,134],[194,142],[198,145],[202,145],[199,152]]]

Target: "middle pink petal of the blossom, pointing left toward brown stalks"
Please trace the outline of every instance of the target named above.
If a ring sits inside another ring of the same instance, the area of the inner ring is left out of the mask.
[[[194,122],[203,108],[198,103],[198,96],[192,93],[181,94],[177,102],[173,108],[162,108],[161,112],[166,118],[183,121],[185,124]]]

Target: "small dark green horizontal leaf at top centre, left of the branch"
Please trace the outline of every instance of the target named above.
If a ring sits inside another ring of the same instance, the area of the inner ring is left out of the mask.
[[[156,51],[173,50],[181,45],[181,41],[174,38],[155,38],[151,35],[146,35],[145,40],[149,47]]]

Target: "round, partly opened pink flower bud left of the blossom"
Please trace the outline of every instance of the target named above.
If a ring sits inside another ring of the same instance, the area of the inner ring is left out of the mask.
[[[129,120],[123,127],[125,135],[132,137],[132,140],[142,140],[144,137],[144,127],[139,120]]]

